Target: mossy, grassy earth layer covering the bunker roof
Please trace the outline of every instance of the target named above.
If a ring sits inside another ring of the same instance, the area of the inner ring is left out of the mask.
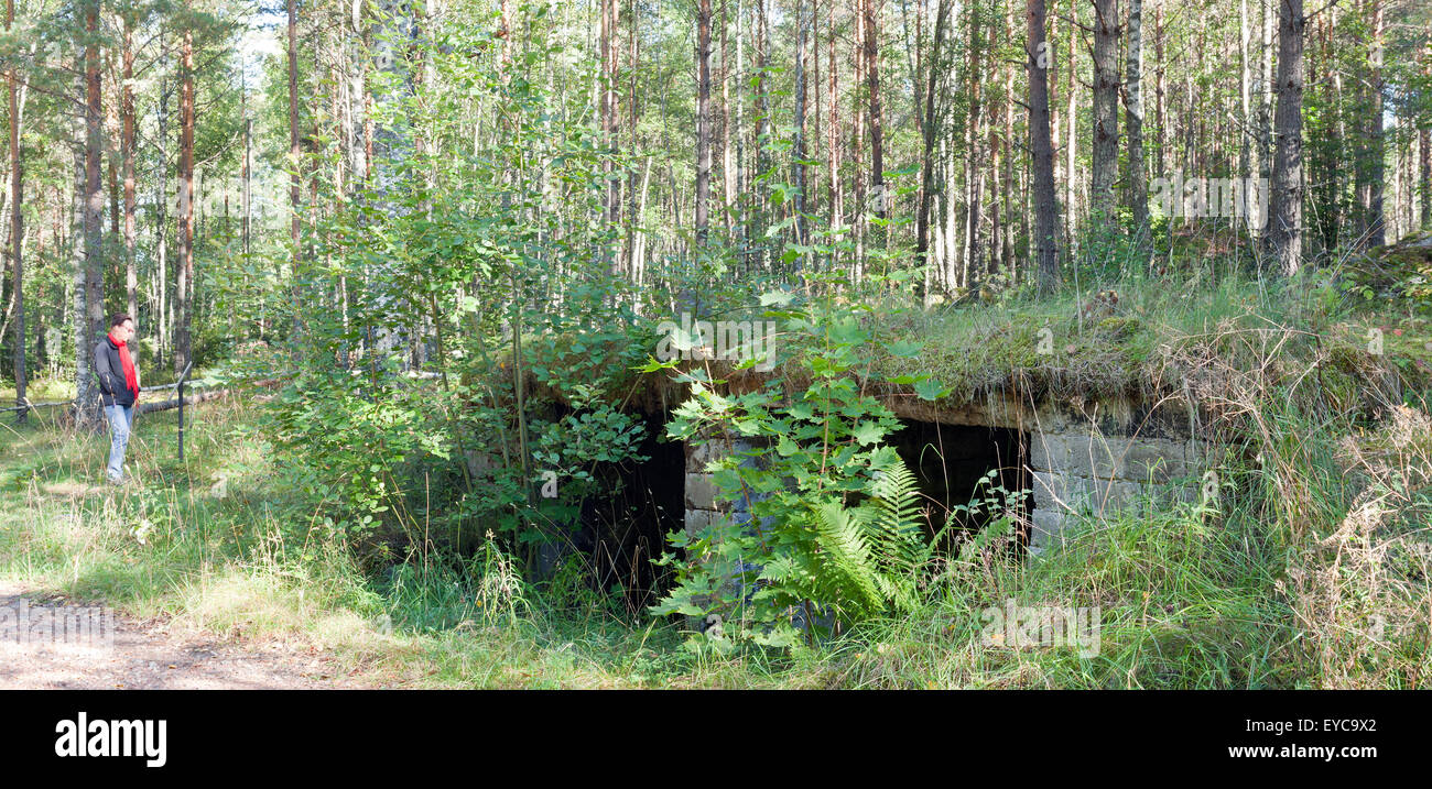
[[[1355,299],[1315,304],[1310,287],[1302,280],[1256,282],[1240,276],[1203,284],[1171,279],[1100,283],[1088,293],[1117,289],[1118,302],[1103,307],[1110,314],[1093,320],[1080,319],[1090,302],[1087,293],[1011,294],[932,310],[912,309],[908,299],[872,297],[863,319],[871,333],[863,349],[869,366],[852,374],[868,390],[905,394],[914,387],[886,382],[929,376],[948,390],[941,399],[944,407],[1015,390],[1034,397],[1057,393],[1085,399],[1181,394],[1187,369],[1170,366],[1170,354],[1183,363],[1216,360],[1200,370],[1203,374],[1257,372],[1276,386],[1296,383],[1290,392],[1299,397],[1350,409],[1365,409],[1386,396],[1389,374],[1413,389],[1432,380],[1428,320],[1408,317],[1385,327],[1386,354],[1376,356],[1368,350],[1368,332],[1386,322],[1386,304]],[[627,347],[606,347],[601,356],[607,367],[629,369],[649,354],[653,337],[650,332],[629,330],[620,340]],[[604,339],[616,342],[610,334]],[[895,356],[888,350],[894,343],[915,344],[919,352],[914,357]],[[551,369],[577,350],[569,343],[556,347],[564,350],[548,360]],[[591,343],[583,350],[589,356],[583,366],[591,370]],[[1319,359],[1322,364],[1313,370]],[[634,376],[607,369],[604,374],[611,396],[629,405],[669,406],[683,397],[684,386],[673,383],[667,373]],[[788,392],[809,384],[809,372],[799,364],[770,373],[733,372],[717,364],[713,376],[729,380],[733,390],[759,387],[772,379]],[[1326,392],[1319,394],[1319,387]],[[1219,383],[1214,380],[1206,392],[1219,392]],[[550,394],[561,397],[558,392]]]

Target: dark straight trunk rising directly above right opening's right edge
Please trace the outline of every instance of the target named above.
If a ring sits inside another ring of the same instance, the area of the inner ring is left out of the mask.
[[[1030,153],[1034,159],[1034,236],[1030,257],[1040,276],[1040,290],[1048,293],[1058,279],[1058,206],[1054,202],[1054,146],[1050,139],[1051,61],[1045,40],[1044,0],[1025,0],[1028,23],[1028,51],[1025,71],[1030,76]],[[1073,139],[1073,134],[1070,136]]]

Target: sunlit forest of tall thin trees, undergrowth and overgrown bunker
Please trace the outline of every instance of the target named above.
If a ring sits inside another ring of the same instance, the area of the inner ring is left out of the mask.
[[[3,582],[365,686],[1432,678],[1432,4],[4,14]]]

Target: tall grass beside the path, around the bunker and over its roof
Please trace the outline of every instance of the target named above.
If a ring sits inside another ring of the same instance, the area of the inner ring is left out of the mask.
[[[1360,350],[1376,316],[1237,274],[1183,292],[1113,287],[1121,306],[1094,320],[1077,316],[1087,294],[1015,293],[891,313],[884,330],[921,337],[945,383],[969,392],[1040,366],[1095,390],[1177,382],[1223,447],[1217,495],[1084,516],[1038,559],[949,560],[914,615],[815,646],[706,649],[574,573],[527,583],[491,542],[454,556],[422,540],[365,566],[315,527],[315,505],[251,429],[262,406],[242,402],[190,412],[183,463],[173,412],[140,417],[129,457],[140,485],[119,490],[97,485],[106,436],[7,422],[0,577],[215,637],[329,649],[375,685],[1425,686],[1432,422],[1415,387]],[[1040,326],[1058,334],[1053,360],[1034,353]],[[991,640],[987,613],[1008,600],[1098,606],[1097,653]]]

